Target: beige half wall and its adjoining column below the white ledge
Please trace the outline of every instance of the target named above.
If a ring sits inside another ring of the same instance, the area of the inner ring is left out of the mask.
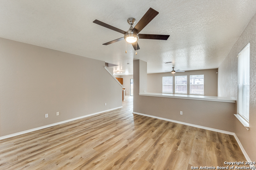
[[[146,89],[145,63],[141,60],[133,63],[134,112],[234,132],[234,103],[139,96],[139,91]]]

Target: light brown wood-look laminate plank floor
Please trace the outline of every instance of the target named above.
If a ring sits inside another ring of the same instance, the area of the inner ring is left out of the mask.
[[[123,108],[0,141],[1,170],[188,170],[246,161],[232,135]]]

